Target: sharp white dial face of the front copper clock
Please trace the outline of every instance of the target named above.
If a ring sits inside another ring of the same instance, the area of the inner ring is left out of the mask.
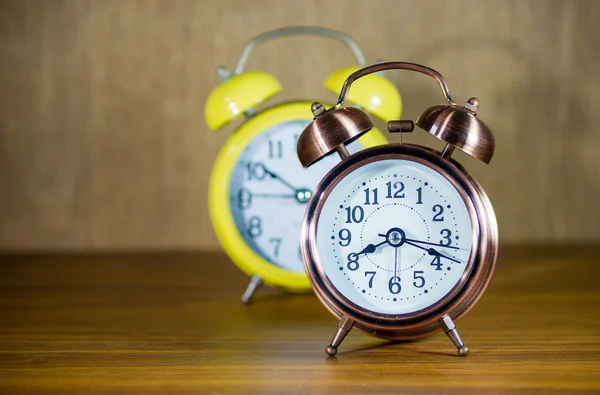
[[[469,210],[443,175],[407,159],[347,174],[326,196],[316,251],[331,284],[372,312],[410,314],[453,291],[473,247]]]

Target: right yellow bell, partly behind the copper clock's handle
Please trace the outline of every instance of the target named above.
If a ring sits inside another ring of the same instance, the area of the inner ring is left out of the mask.
[[[360,69],[359,66],[349,66],[335,71],[325,81],[325,87],[339,93],[346,78]],[[347,100],[384,121],[400,119],[402,113],[402,98],[398,89],[390,80],[378,74],[370,74],[357,80],[352,85]]]

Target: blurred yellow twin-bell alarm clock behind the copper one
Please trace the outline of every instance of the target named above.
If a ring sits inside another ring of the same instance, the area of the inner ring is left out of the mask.
[[[300,251],[300,229],[312,191],[338,161],[326,158],[306,170],[296,157],[302,130],[313,120],[309,101],[284,103],[257,112],[254,107],[281,90],[279,82],[260,71],[244,71],[252,50],[262,42],[298,34],[340,40],[352,51],[358,66],[333,73],[325,86],[339,91],[346,77],[366,64],[356,42],[346,34],[317,27],[289,27],[251,39],[233,70],[220,66],[221,84],[209,95],[206,122],[216,130],[238,116],[246,121],[226,141],[214,163],[209,184],[209,211],[215,233],[231,260],[251,276],[242,295],[248,303],[263,283],[290,291],[310,289]],[[398,119],[401,98],[382,75],[356,84],[348,100],[385,121]],[[351,152],[385,144],[379,131],[348,145]]]

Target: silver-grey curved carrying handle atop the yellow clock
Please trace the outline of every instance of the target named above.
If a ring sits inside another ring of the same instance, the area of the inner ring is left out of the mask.
[[[356,61],[358,62],[358,64],[360,66],[366,66],[366,64],[367,64],[365,55],[362,53],[362,51],[361,51],[360,47],[358,46],[358,44],[356,43],[356,41],[354,41],[354,39],[352,37],[350,37],[349,35],[342,33],[342,32],[338,32],[337,30],[326,29],[323,27],[292,26],[292,27],[284,27],[281,29],[275,29],[275,30],[265,32],[263,34],[260,34],[256,37],[252,38],[250,41],[248,41],[248,43],[242,50],[240,59],[238,60],[237,65],[235,66],[234,73],[241,74],[244,72],[244,68],[246,67],[246,62],[248,61],[248,58],[250,58],[250,54],[252,54],[252,51],[254,50],[254,48],[256,46],[264,43],[265,41],[268,41],[268,40],[271,40],[274,38],[297,36],[297,35],[323,36],[323,37],[329,37],[329,38],[333,38],[335,40],[341,41],[348,47],[350,52],[352,52],[352,55],[354,55],[354,57],[356,58]]]

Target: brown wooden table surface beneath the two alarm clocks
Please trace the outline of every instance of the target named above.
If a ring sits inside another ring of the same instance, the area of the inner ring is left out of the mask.
[[[501,248],[443,333],[388,343],[315,296],[261,289],[221,254],[0,256],[0,393],[600,393],[598,247]]]

